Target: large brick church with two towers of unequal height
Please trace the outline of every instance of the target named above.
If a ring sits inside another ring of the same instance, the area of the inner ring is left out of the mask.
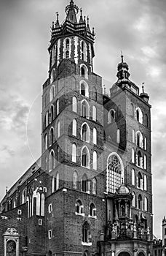
[[[152,255],[151,105],[123,56],[109,95],[93,71],[95,31],[52,23],[42,157],[1,201],[0,255]]]

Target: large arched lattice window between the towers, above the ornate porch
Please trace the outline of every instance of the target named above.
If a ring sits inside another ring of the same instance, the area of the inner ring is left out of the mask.
[[[115,193],[122,182],[122,166],[118,157],[115,154],[111,154],[108,158],[107,165],[107,191]]]

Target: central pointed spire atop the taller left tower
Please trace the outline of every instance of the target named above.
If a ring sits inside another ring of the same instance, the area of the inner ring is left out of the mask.
[[[74,4],[74,1],[71,0],[70,4],[66,7],[66,20],[70,21],[71,23],[77,23],[76,14],[79,12],[79,7]]]

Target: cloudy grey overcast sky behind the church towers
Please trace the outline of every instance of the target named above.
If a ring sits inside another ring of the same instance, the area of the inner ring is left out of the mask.
[[[50,26],[69,0],[0,1],[0,198],[41,153],[41,91]],[[123,50],[130,79],[152,105],[154,234],[166,215],[166,2],[76,0],[95,27],[95,72],[110,84]]]

